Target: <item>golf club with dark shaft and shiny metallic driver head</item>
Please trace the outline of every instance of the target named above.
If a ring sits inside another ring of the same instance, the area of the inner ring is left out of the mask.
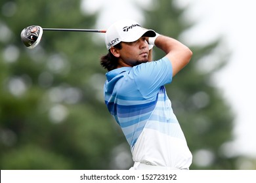
[[[30,25],[22,30],[20,37],[27,48],[35,48],[41,41],[43,31],[75,31],[75,32],[91,32],[91,33],[106,33],[106,30],[100,29],[54,29],[42,28],[39,25]]]

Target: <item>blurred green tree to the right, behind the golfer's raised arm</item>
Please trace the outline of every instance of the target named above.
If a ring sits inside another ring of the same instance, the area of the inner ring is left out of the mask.
[[[153,10],[144,10],[145,26],[163,35],[180,40],[181,33],[192,25],[182,18],[184,9],[175,7],[174,1],[158,1],[153,7]],[[212,76],[228,61],[230,53],[218,52],[219,60],[212,57],[216,50],[228,50],[221,47],[221,38],[204,46],[189,47],[193,52],[192,60],[166,88],[194,155],[190,168],[236,169],[238,157],[230,158],[224,151],[226,144],[234,138],[234,115],[212,82]],[[154,50],[155,58],[163,56],[163,52]],[[214,66],[203,72],[200,67],[206,57],[211,58],[208,65]]]

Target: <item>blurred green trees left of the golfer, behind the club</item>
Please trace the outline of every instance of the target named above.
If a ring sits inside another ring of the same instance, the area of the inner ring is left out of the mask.
[[[96,14],[68,0],[0,7],[0,168],[111,169],[123,137],[102,98],[104,44],[92,33],[50,31],[33,50],[20,41],[28,25],[93,29]]]

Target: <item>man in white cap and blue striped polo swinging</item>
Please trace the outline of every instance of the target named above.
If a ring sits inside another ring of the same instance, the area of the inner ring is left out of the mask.
[[[105,42],[108,54],[100,60],[108,70],[104,99],[131,146],[131,169],[189,169],[192,154],[165,84],[188,64],[192,52],[127,19],[108,28]],[[151,60],[152,44],[165,52],[163,58]]]

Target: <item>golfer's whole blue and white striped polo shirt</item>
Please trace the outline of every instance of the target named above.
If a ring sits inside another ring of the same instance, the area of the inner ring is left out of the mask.
[[[167,58],[114,69],[106,73],[104,98],[131,146],[133,161],[188,169],[192,154],[164,87],[172,75]]]

